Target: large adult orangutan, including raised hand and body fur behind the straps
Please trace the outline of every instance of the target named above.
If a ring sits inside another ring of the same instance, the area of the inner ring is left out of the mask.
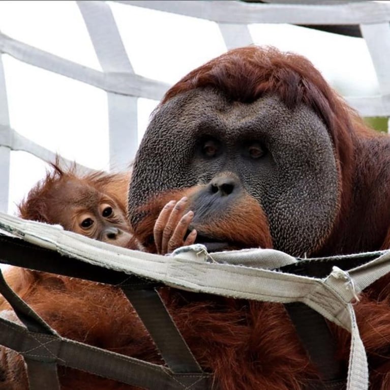
[[[306,58],[239,48],[166,93],[134,163],[130,220],[144,247],[160,253],[180,244],[178,231],[209,251],[325,256],[387,248],[389,158],[388,136],[368,129]],[[356,305],[375,390],[390,387],[387,280]],[[283,307],[209,297],[204,308],[203,296],[178,291],[165,299],[218,388],[305,388],[312,371]],[[196,314],[181,322],[188,307]],[[347,338],[335,333],[337,357],[347,362]]]

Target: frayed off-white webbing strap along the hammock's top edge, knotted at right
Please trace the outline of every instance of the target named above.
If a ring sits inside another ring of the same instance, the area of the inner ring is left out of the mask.
[[[331,275],[318,279],[272,271],[295,261],[274,250],[208,254],[203,246],[194,245],[177,250],[172,256],[160,256],[113,247],[58,226],[4,214],[0,214],[0,228],[27,242],[82,261],[156,279],[174,287],[257,301],[303,302],[351,332],[347,390],[368,388],[366,353],[350,302],[363,288],[390,271],[390,252],[349,272],[334,267]],[[240,263],[246,265],[236,265]]]

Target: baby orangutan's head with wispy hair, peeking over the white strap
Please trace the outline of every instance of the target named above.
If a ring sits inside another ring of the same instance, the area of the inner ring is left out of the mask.
[[[127,219],[130,172],[54,171],[38,183],[19,206],[21,218],[61,225],[89,238],[137,249]]]

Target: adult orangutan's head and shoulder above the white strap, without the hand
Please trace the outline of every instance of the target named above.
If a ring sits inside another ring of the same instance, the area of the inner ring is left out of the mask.
[[[131,222],[147,245],[167,200],[188,196],[190,227],[209,248],[386,248],[389,147],[307,59],[232,50],[185,76],[155,112],[134,165]]]

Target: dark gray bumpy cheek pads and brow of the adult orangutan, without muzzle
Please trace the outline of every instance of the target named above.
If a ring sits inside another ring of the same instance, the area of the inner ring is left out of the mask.
[[[204,153],[210,141],[218,147],[213,156]],[[250,154],[253,145],[260,157]],[[155,113],[134,164],[131,223],[136,228],[136,209],[151,196],[208,184],[223,172],[259,202],[275,249],[310,254],[331,231],[339,175],[321,119],[303,104],[288,109],[275,95],[241,103],[212,88],[178,95]],[[196,216],[196,204],[191,209]]]

